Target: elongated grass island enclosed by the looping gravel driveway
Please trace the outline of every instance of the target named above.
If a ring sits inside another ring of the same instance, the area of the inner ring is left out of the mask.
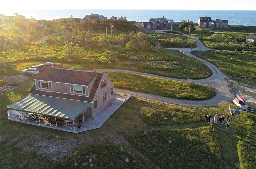
[[[108,77],[114,83],[115,87],[124,90],[187,100],[206,100],[216,95],[212,87],[198,84],[194,84],[190,88],[186,82],[121,72],[108,73]]]

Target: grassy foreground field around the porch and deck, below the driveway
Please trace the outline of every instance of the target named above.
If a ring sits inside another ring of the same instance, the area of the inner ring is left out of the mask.
[[[251,113],[233,116],[229,129],[213,126],[214,134],[204,126],[204,107],[194,112],[131,98],[100,129],[73,134],[7,120],[4,107],[32,85],[31,78],[1,95],[0,168],[207,168],[212,159],[221,164],[213,168],[255,166]],[[228,104],[206,113],[227,116]]]

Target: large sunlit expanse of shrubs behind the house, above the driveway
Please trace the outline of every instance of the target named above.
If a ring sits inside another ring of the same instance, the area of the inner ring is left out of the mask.
[[[24,20],[19,22],[25,24]],[[105,32],[102,30],[109,25],[108,22],[88,21],[82,26],[77,18],[42,20],[47,28],[37,30],[36,26],[31,25],[29,32],[33,38],[30,41],[22,24],[3,30],[0,36],[0,63],[3,65],[0,69],[1,74],[16,70],[15,65],[21,62],[51,61],[63,65],[72,64],[69,67],[73,67],[74,64],[80,67],[79,64],[83,64],[86,70],[129,69],[185,79],[211,76],[211,70],[204,63],[178,51],[160,49],[162,46],[186,47],[188,44],[184,36],[137,33],[137,27],[133,22],[122,17],[113,23],[113,37],[109,38],[107,43]],[[31,42],[53,32],[58,34],[48,36],[46,43]],[[193,39],[191,43],[195,45]]]

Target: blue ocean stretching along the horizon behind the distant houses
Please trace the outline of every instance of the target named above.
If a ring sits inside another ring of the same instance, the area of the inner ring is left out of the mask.
[[[110,18],[127,17],[129,21],[148,22],[149,18],[165,17],[173,19],[175,22],[182,20],[192,20],[198,22],[199,17],[212,17],[212,20],[222,19],[228,20],[228,25],[244,25],[256,26],[256,11],[219,11],[219,10],[88,10],[88,9],[42,9],[42,10],[22,10],[22,9],[2,9],[1,13],[7,16],[13,16],[14,13],[19,13],[26,18],[41,19],[58,19],[68,18],[71,15],[73,18],[84,18],[86,15],[97,13]]]

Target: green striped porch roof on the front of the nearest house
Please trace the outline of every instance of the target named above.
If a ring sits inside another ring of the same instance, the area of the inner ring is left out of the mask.
[[[90,107],[91,103],[88,102],[28,94],[7,106],[6,109],[62,119],[76,119],[84,110]]]

